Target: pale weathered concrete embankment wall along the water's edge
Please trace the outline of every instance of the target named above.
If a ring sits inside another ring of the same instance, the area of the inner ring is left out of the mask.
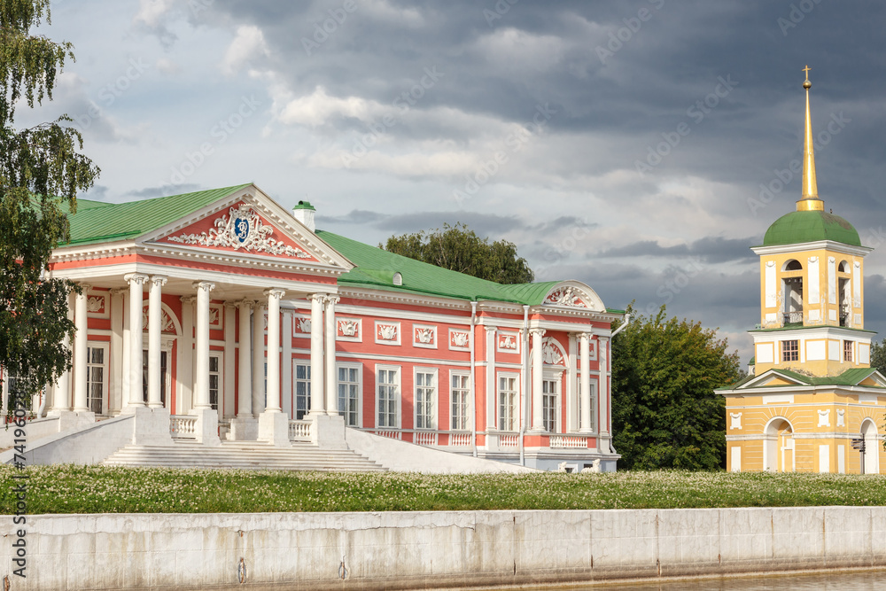
[[[19,526],[0,521],[15,591],[434,588],[886,565],[883,507],[28,516],[27,579],[12,574]]]

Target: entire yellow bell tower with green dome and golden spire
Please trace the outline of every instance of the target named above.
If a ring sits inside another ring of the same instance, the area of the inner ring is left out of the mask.
[[[760,257],[754,371],[717,390],[726,399],[727,470],[880,473],[886,377],[870,367],[874,332],[865,330],[871,249],[819,198],[809,66],[804,72],[802,194],[797,210],[753,248]]]

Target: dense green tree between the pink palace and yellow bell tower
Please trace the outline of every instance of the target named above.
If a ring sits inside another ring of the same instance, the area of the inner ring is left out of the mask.
[[[612,340],[613,445],[627,469],[716,470],[726,461],[726,401],[738,354],[700,323],[634,316]]]

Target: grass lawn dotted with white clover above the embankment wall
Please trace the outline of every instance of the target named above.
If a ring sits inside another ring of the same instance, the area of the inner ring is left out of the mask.
[[[886,505],[886,476],[726,472],[420,475],[0,466],[0,513],[254,513]]]

